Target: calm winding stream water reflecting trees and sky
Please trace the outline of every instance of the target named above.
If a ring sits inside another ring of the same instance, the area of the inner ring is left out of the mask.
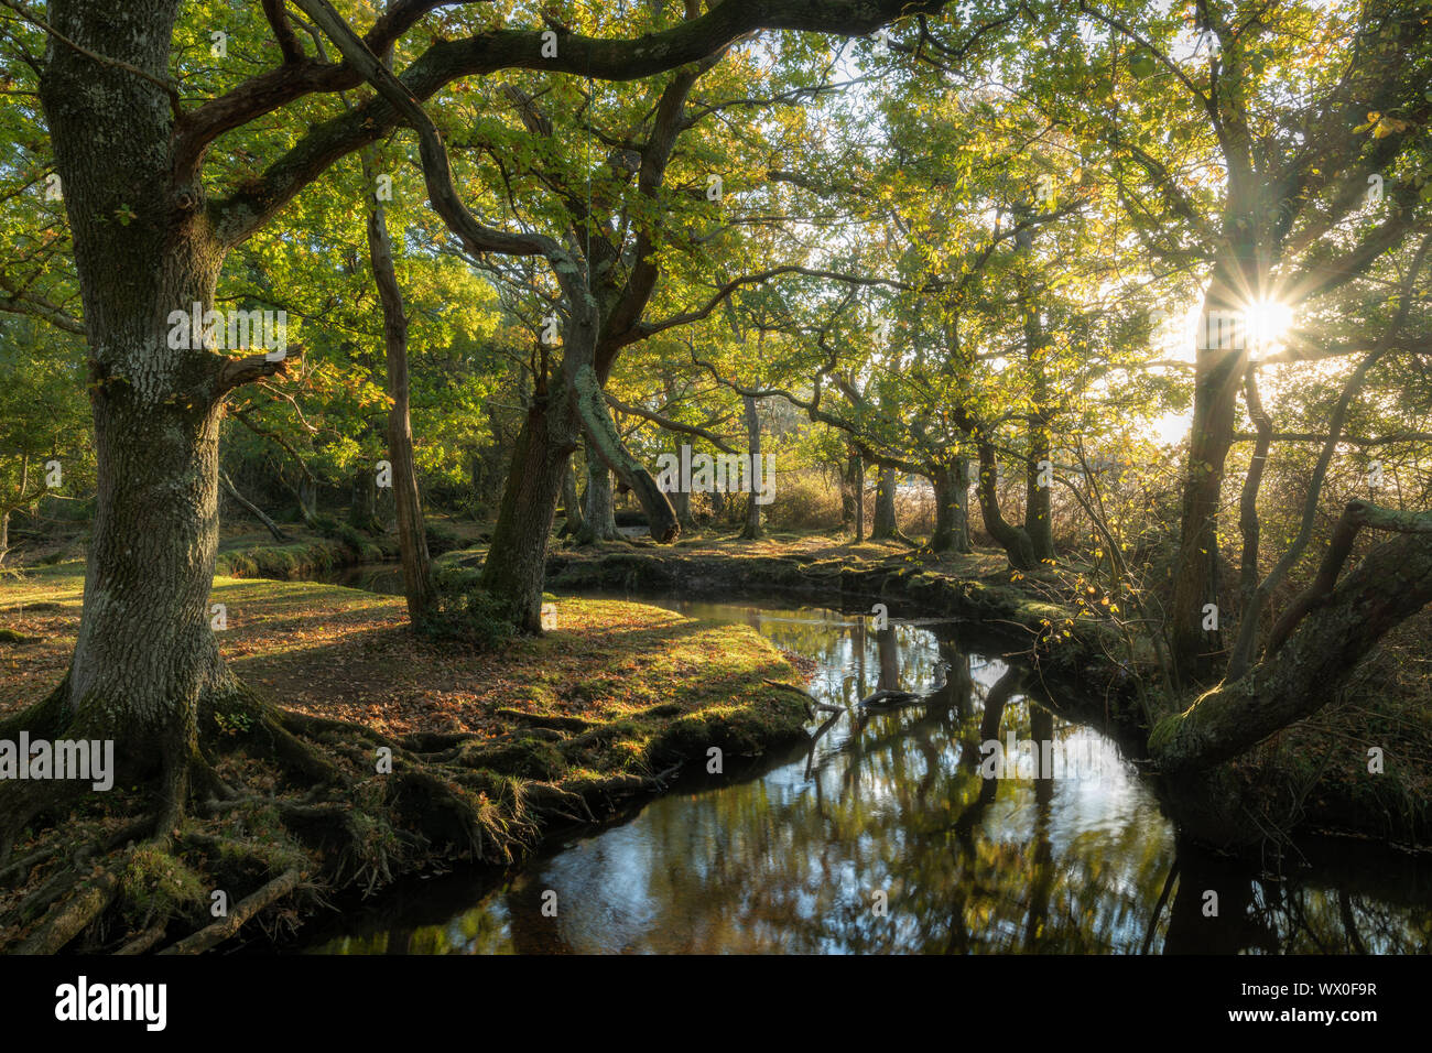
[[[381,592],[398,580],[391,566],[332,579]],[[815,662],[809,689],[823,701],[853,705],[878,688],[928,698],[812,722],[813,745],[740,769],[727,758],[720,776],[693,764],[613,825],[557,837],[510,872],[405,883],[315,923],[295,950],[1432,948],[1426,860],[1323,842],[1250,868],[1186,844],[1111,738],[1011,689],[998,649],[969,642],[967,626],[892,619],[875,632],[823,607],[643,599],[753,626]],[[1053,746],[1038,764],[1010,755],[991,778],[981,744],[1011,735]]]

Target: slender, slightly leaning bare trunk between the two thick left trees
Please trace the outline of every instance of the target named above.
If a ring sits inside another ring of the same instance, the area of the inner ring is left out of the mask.
[[[368,183],[368,259],[378,285],[378,299],[382,302],[382,344],[388,367],[388,397],[392,400],[388,408],[388,461],[392,466],[392,503],[402,554],[402,592],[408,603],[408,619],[417,625],[432,606],[432,560],[422,524],[422,497],[418,493],[412,423],[408,414],[408,315],[392,264],[387,212],[377,195],[378,173],[371,150],[364,152],[362,168]]]

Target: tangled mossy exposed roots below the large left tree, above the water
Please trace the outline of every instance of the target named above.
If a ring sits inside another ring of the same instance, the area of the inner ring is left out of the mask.
[[[221,681],[199,701],[195,741],[166,751],[172,764],[126,772],[105,794],[0,784],[6,855],[24,835],[20,858],[0,857],[0,951],[209,950],[331,893],[367,895],[450,860],[510,864],[547,822],[597,822],[594,804],[664,788],[676,771],[558,784],[621,731],[534,718],[495,738],[391,738]],[[6,725],[59,736],[60,696]],[[233,904],[219,920],[216,893]]]

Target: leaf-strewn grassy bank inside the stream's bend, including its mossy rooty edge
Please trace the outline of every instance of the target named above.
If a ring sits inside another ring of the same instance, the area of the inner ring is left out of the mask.
[[[0,626],[14,635],[0,642],[0,721],[64,675],[82,593],[77,564],[0,587]],[[803,735],[799,695],[766,683],[798,683],[798,670],[748,626],[561,599],[544,638],[463,653],[414,636],[401,597],[219,577],[211,602],[223,605],[219,642],[232,669],[282,706],[284,726],[305,735],[348,791],[315,798],[312,781],[294,781],[295,758],[265,738],[284,732],[261,728],[259,711],[236,701],[213,713],[221,742],[235,744],[213,771],[272,792],[196,807],[162,852],[117,847],[145,801],[123,785],[87,794],[44,841],[16,845],[16,857],[39,862],[0,890],[0,918],[19,920],[0,925],[0,944],[53,936],[47,884],[83,880],[66,857],[86,845],[116,842],[103,871],[110,924],[86,948],[159,946],[205,924],[212,888],[282,894],[279,914],[296,921],[334,893],[375,890],[450,857],[520,857],[554,822],[601,821],[712,746],[735,758]],[[375,771],[382,742],[392,744],[391,775]],[[463,830],[444,831],[445,815]],[[92,891],[80,885],[76,897]]]

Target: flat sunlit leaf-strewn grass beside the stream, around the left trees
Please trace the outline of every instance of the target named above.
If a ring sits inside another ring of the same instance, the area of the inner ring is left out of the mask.
[[[0,715],[44,696],[64,675],[79,626],[83,567],[36,569],[0,586]],[[218,577],[223,656],[288,709],[365,723],[388,735],[498,735],[523,715],[596,726],[624,722],[603,771],[639,768],[673,721],[739,719],[752,744],[789,736],[796,668],[748,626],[697,622],[640,603],[563,599],[558,629],[498,653],[428,643],[407,628],[398,596],[314,582]],[[561,776],[561,772],[553,775]]]

